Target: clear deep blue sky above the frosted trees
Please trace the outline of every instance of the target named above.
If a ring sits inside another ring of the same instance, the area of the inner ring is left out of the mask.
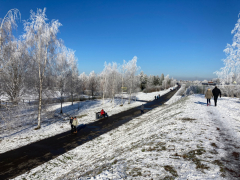
[[[240,0],[0,0],[0,17],[17,8],[26,20],[44,7],[62,23],[58,37],[76,51],[80,73],[137,56],[148,75],[209,79],[223,67]]]

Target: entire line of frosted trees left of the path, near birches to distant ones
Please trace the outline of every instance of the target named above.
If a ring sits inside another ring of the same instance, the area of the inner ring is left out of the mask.
[[[128,93],[129,103],[132,94],[140,89],[161,87],[166,89],[176,81],[167,75],[138,75],[137,57],[104,64],[100,74],[92,71],[89,75],[79,73],[75,52],[64,45],[57,37],[61,23],[58,20],[48,22],[46,9],[30,12],[30,18],[24,22],[24,34],[16,38],[13,29],[21,14],[17,9],[10,10],[0,21],[0,95],[4,94],[13,104],[17,104],[23,95],[38,96],[38,127],[41,127],[43,99],[64,97],[73,99],[87,94],[89,97],[110,97],[114,103],[116,94]],[[123,102],[123,101],[122,101]],[[62,108],[61,108],[62,109]]]

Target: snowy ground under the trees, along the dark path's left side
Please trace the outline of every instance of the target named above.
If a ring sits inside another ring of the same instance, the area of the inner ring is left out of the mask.
[[[7,129],[7,123],[1,123],[0,128],[4,129],[1,132],[0,135],[0,153],[19,148],[21,146],[25,146],[27,144],[30,144],[35,141],[39,141],[41,139],[45,139],[51,136],[54,136],[56,134],[70,131],[70,125],[69,125],[69,117],[76,116],[78,119],[79,124],[88,124],[91,122],[96,121],[95,119],[95,113],[99,112],[102,108],[108,113],[109,116],[113,114],[117,114],[122,111],[126,111],[130,108],[140,106],[141,104],[145,104],[147,101],[153,100],[154,96],[160,94],[161,96],[169,92],[170,89],[163,90],[160,92],[153,92],[153,93],[137,93],[134,94],[136,96],[137,101],[132,100],[130,104],[128,104],[127,99],[123,99],[123,106],[120,106],[121,99],[115,99],[114,103],[111,102],[111,99],[106,99],[104,101],[102,100],[89,100],[80,102],[79,104],[79,110],[78,110],[78,103],[74,103],[72,106],[71,102],[64,103],[63,104],[63,112],[64,115],[60,116],[60,103],[53,104],[47,108],[48,112],[51,116],[54,115],[55,112],[55,118],[51,117],[45,117],[43,116],[44,122],[41,125],[41,129],[34,130],[34,127],[37,126],[37,119],[35,112],[34,116],[31,116],[32,111],[21,111],[23,114],[15,115],[19,118],[15,118],[15,121],[11,122],[11,126],[17,126],[17,128],[13,128],[8,130]],[[118,95],[118,97],[121,97],[121,95]],[[125,95],[125,98],[128,96]],[[134,98],[135,99],[135,98]],[[29,120],[27,118],[32,118],[32,120]],[[48,119],[49,118],[49,119]],[[34,121],[34,122],[33,122]],[[31,122],[31,123],[26,123]],[[10,122],[9,122],[10,123]],[[9,125],[8,123],[8,125]]]

